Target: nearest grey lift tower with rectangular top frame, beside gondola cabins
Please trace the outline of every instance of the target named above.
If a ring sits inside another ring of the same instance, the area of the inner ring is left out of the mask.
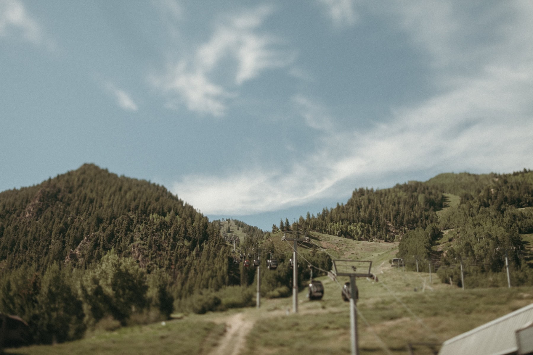
[[[333,271],[336,276],[350,277],[350,337],[352,341],[352,355],[359,354],[358,336],[357,336],[357,277],[375,276],[370,273],[372,268],[372,261],[362,260],[333,260]]]

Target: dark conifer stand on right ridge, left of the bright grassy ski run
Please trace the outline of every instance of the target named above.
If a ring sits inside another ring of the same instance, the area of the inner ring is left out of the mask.
[[[276,230],[312,230],[361,241],[394,241],[407,230],[426,228],[437,222],[435,211],[443,207],[443,195],[438,188],[418,181],[398,184],[388,189],[359,188],[346,204],[322,209],[317,216],[306,217],[288,225],[280,221]]]

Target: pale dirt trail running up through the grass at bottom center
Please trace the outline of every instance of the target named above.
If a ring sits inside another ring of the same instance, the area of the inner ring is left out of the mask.
[[[254,326],[254,321],[245,319],[243,313],[225,318],[224,323],[226,333],[209,355],[239,355],[244,349],[246,336]]]

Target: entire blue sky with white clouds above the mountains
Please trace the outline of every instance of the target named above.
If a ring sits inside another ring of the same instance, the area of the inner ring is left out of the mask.
[[[0,0],[0,191],[94,163],[269,230],[533,168],[533,2]]]

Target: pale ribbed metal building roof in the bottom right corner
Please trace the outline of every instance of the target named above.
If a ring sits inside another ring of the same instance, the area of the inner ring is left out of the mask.
[[[439,355],[505,355],[515,352],[515,332],[533,321],[533,303],[444,343]]]

